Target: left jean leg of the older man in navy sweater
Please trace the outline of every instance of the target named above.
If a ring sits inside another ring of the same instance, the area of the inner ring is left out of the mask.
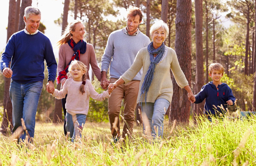
[[[21,118],[23,117],[23,96],[21,94],[21,84],[11,80],[10,98],[12,101],[12,133],[21,126]]]

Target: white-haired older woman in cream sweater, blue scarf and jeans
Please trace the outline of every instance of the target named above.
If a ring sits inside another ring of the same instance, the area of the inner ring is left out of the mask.
[[[172,102],[170,69],[177,84],[187,90],[188,100],[194,100],[175,51],[164,45],[168,32],[169,28],[163,20],[156,21],[150,28],[153,41],[148,47],[140,49],[130,69],[108,87],[114,89],[120,84],[131,81],[143,67],[137,102],[141,105],[142,113],[145,113],[148,118],[153,137],[163,137],[165,109]],[[145,127],[144,122],[143,126]]]

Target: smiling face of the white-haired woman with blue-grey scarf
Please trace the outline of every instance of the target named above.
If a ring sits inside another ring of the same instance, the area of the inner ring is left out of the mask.
[[[153,31],[151,38],[153,40],[154,49],[160,47],[166,38],[164,28],[160,27],[159,29]]]

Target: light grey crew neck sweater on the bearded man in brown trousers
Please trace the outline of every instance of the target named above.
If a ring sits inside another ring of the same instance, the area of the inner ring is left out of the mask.
[[[101,58],[101,71],[108,70],[110,64],[110,78],[119,79],[131,67],[138,51],[147,47],[149,43],[148,36],[141,32],[136,36],[124,34],[123,29],[112,32]],[[141,74],[140,70],[132,80],[140,80]]]

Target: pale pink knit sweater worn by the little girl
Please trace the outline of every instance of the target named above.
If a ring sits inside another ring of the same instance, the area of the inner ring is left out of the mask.
[[[108,90],[104,91],[102,94],[98,94],[94,90],[92,83],[88,79],[86,79],[86,83],[84,86],[85,93],[82,94],[79,91],[81,84],[82,81],[74,81],[72,78],[67,79],[63,88],[60,91],[55,89],[54,93],[52,94],[52,96],[56,97],[56,99],[65,98],[66,94],[68,94],[65,108],[67,109],[67,112],[71,115],[87,115],[89,110],[89,97],[92,97],[97,101],[103,101],[106,98],[110,97],[110,95],[108,94]]]

